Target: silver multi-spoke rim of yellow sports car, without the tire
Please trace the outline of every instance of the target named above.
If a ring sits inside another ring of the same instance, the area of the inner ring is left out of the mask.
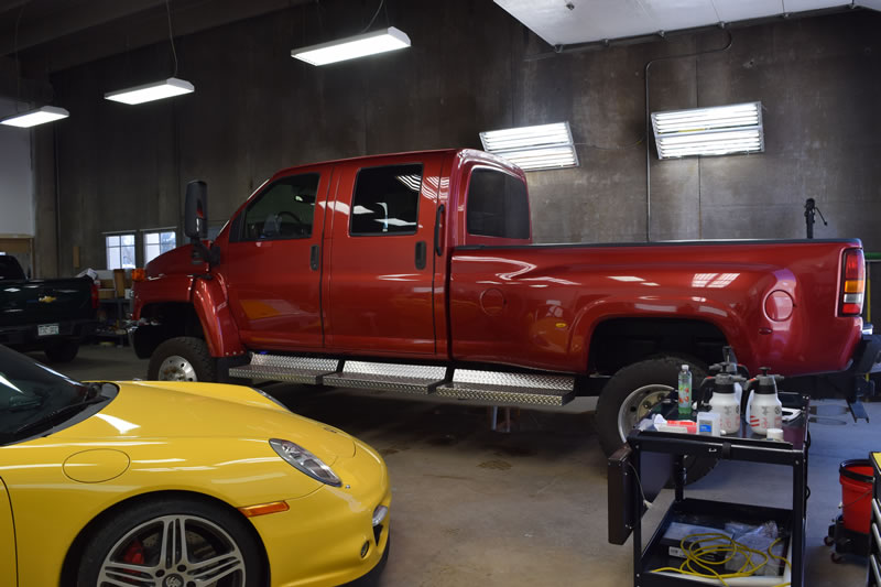
[[[127,532],[104,559],[97,587],[242,587],[244,556],[220,526],[163,515]]]

